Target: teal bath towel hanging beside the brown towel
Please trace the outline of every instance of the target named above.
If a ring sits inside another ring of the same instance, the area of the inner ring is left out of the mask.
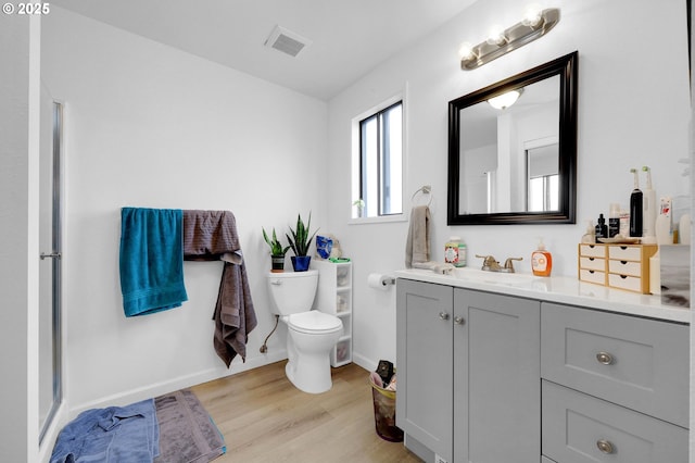
[[[180,306],[184,285],[180,209],[121,210],[121,290],[126,316]]]

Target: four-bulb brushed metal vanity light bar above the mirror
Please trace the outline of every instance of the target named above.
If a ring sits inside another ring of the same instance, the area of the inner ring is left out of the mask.
[[[485,41],[471,46],[462,43],[458,54],[460,68],[471,71],[500,58],[519,47],[522,47],[539,37],[544,36],[560,21],[558,8],[528,8],[523,20],[511,27],[502,29],[500,26],[492,28]]]

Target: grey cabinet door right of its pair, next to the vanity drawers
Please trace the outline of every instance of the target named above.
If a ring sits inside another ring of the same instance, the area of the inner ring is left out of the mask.
[[[456,462],[541,459],[539,301],[455,289]]]

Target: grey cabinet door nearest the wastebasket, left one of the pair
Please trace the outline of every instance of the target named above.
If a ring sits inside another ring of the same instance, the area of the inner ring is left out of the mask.
[[[448,286],[399,279],[396,424],[452,462],[452,309]]]

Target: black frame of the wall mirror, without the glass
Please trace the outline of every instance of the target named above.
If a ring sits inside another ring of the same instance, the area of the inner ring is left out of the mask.
[[[577,75],[574,51],[448,102],[447,225],[574,224],[577,210]],[[460,129],[463,109],[515,88],[560,76],[559,95],[559,210],[460,214]]]

